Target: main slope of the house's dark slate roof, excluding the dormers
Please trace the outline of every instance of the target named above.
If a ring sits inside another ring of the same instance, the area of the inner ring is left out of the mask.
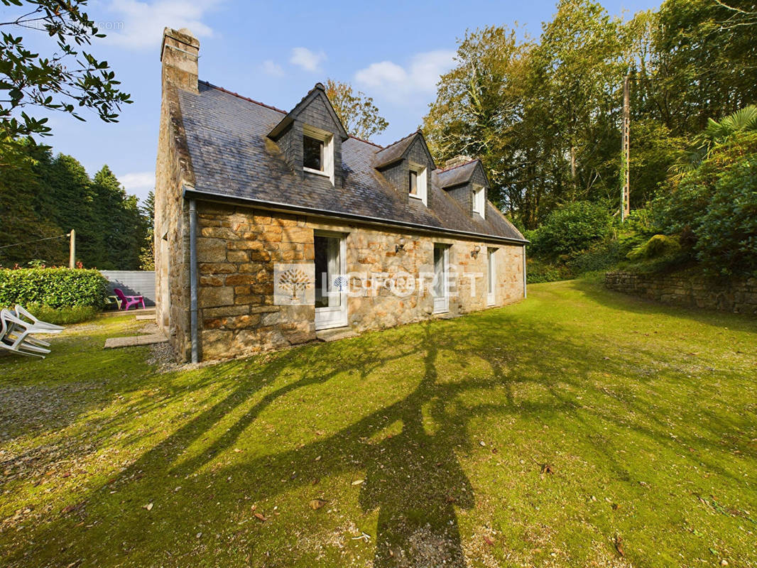
[[[351,136],[341,146],[342,187],[335,188],[323,176],[306,173],[302,179],[267,137],[285,112],[203,81],[198,88],[198,93],[178,91],[195,174],[195,187],[189,191],[198,197],[241,199],[256,206],[525,242],[491,203],[485,220],[472,218],[438,185],[437,177],[444,172],[431,175],[430,207],[400,195],[375,170],[375,154],[383,148]]]

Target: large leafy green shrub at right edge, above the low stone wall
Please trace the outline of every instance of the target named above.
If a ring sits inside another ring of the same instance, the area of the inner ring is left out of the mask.
[[[757,133],[716,145],[656,200],[658,223],[709,272],[757,273]]]

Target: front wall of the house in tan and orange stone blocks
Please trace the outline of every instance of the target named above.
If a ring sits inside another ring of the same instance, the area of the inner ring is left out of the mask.
[[[488,307],[485,242],[391,233],[369,226],[335,225],[312,217],[198,201],[198,320],[204,360],[316,339],[313,305],[273,303],[274,264],[313,263],[316,230],[345,236],[347,273],[431,273],[434,244],[449,245],[450,265],[462,272],[481,273],[473,281],[459,280],[456,295],[450,296],[449,314]],[[395,245],[400,236],[406,239],[406,245],[397,252]],[[472,257],[476,245],[481,251]],[[523,297],[523,248],[494,246],[495,305],[519,301]],[[433,315],[433,297],[428,291],[399,297],[385,286],[377,290],[375,295],[347,298],[347,325],[355,331],[397,326]]]

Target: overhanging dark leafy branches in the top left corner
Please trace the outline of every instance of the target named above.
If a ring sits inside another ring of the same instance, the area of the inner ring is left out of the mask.
[[[80,46],[104,37],[83,8],[87,0],[0,0],[17,15],[0,22],[0,144],[19,136],[48,136],[47,118],[26,108],[62,111],[85,120],[78,108],[95,111],[101,120],[116,122],[121,105],[131,102],[107,61],[98,61]],[[36,30],[54,39],[58,49],[49,56],[30,51],[14,28]],[[8,30],[8,31],[5,31]]]

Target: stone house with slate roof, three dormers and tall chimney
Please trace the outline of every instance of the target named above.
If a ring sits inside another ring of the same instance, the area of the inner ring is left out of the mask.
[[[349,136],[318,83],[280,111],[198,80],[164,31],[155,187],[157,323],[183,360],[322,330],[453,317],[525,296],[525,244],[478,160],[438,168],[421,132]]]

